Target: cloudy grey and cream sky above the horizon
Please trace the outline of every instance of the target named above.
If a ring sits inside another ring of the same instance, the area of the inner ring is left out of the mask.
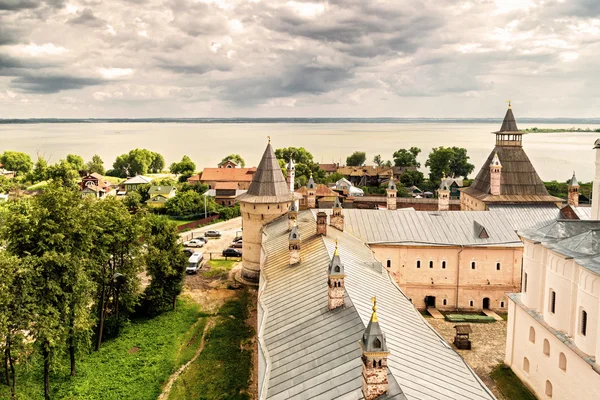
[[[598,0],[0,0],[0,118],[600,117]]]

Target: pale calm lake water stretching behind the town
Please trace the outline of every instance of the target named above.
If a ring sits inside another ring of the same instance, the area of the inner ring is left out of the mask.
[[[520,123],[521,129],[560,128],[557,124]],[[594,126],[569,124],[569,127]],[[86,161],[99,154],[108,169],[114,159],[133,148],[161,153],[167,165],[184,154],[198,169],[216,167],[223,157],[240,154],[248,166],[257,165],[267,143],[275,148],[305,147],[315,160],[341,162],[354,151],[365,151],[368,161],[381,154],[391,159],[399,148],[417,146],[425,171],[432,147],[465,147],[475,165],[473,176],[494,147],[500,123],[44,123],[0,124],[0,152],[16,150],[43,154],[51,162],[67,154]],[[541,178],[565,181],[576,171],[580,181],[594,176],[594,141],[600,133],[536,133],[525,135],[524,148]]]

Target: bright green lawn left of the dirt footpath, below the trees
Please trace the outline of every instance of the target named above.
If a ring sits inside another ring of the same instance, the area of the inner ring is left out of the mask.
[[[75,377],[69,376],[68,359],[59,359],[50,376],[51,398],[155,400],[169,376],[192,358],[195,346],[187,344],[198,342],[198,331],[202,335],[206,321],[196,322],[203,315],[198,305],[180,300],[175,311],[134,321],[100,351],[81,356]],[[7,389],[0,385],[0,399],[10,398]],[[19,399],[43,398],[39,356],[19,366],[17,394]]]

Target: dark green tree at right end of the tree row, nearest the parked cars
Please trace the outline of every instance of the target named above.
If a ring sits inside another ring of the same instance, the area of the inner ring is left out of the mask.
[[[186,259],[174,222],[150,216],[149,233],[145,259],[151,281],[144,291],[144,309],[150,315],[157,315],[175,309],[177,296],[183,289]]]

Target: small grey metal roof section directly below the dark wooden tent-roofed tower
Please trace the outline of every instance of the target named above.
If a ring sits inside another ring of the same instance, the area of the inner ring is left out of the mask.
[[[560,218],[554,204],[489,204],[490,212],[506,219],[515,231],[541,228]]]

